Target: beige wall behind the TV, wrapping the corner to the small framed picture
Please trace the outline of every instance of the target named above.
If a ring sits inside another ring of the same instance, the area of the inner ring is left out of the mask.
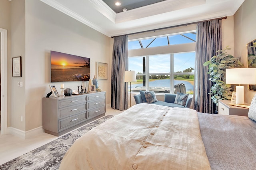
[[[111,38],[40,0],[1,0],[0,3],[2,1],[10,4],[11,13],[8,31],[11,32],[9,42],[12,42],[12,50],[8,59],[8,75],[12,73],[11,57],[22,56],[22,77],[8,78],[8,127],[28,131],[42,126],[42,97],[50,92],[50,51],[89,57],[93,78],[96,62],[110,62]],[[2,22],[0,20],[0,24]],[[106,104],[110,103],[110,75],[109,67],[108,80],[98,80],[106,91]],[[23,87],[17,86],[19,81],[23,82]],[[61,83],[54,84],[60,93]],[[88,87],[88,82],[64,82],[65,88],[74,90],[81,84]]]

